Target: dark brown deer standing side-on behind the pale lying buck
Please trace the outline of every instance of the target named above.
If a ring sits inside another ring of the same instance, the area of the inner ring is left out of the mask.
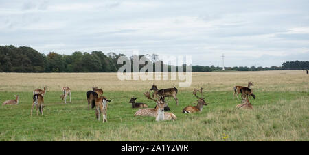
[[[176,98],[176,94],[178,92],[178,90],[176,89],[176,87],[174,88],[167,88],[167,89],[158,89],[157,85],[155,85],[155,83],[152,85],[150,91],[153,90],[154,94],[152,97],[156,97],[159,98],[161,96],[163,97],[170,97],[172,96],[174,98],[174,100],[176,101],[176,106],[178,105],[178,98]]]

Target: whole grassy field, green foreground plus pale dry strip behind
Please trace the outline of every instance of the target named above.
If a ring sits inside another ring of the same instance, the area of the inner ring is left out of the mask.
[[[253,81],[253,110],[236,109],[234,85]],[[309,76],[303,71],[197,72],[192,86],[179,88],[179,106],[169,107],[176,121],[133,117],[130,97],[155,107],[144,97],[152,83],[178,87],[179,81],[119,81],[115,73],[17,74],[0,73],[0,102],[20,96],[20,103],[0,107],[0,141],[308,141]],[[32,90],[48,87],[43,116],[30,117]],[[192,90],[203,86],[201,113],[184,114],[193,105]],[[62,104],[62,87],[71,87],[72,103]],[[108,104],[108,122],[95,120],[87,107],[86,91],[99,86]],[[224,138],[225,137],[225,138]]]

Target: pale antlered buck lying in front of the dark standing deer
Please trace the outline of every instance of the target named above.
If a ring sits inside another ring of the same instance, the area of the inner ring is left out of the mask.
[[[140,116],[151,116],[151,117],[156,117],[157,121],[161,120],[176,120],[176,115],[174,113],[168,113],[164,112],[164,107],[166,106],[164,102],[164,97],[159,98],[159,100],[155,100],[150,97],[150,93],[147,91],[144,93],[144,95],[150,99],[156,102],[157,108],[148,108],[148,109],[139,109],[134,116],[140,115]]]

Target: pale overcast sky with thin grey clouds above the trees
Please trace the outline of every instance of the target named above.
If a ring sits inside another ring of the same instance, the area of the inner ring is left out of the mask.
[[[309,1],[3,1],[0,46],[192,55],[192,64],[309,61]]]

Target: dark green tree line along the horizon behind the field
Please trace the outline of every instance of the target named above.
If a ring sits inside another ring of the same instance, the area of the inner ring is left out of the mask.
[[[91,53],[76,51],[71,55],[60,55],[50,52],[45,55],[27,46],[0,46],[0,72],[117,72],[123,64],[117,64],[119,57],[124,54],[92,51]],[[159,62],[161,70],[163,66],[171,70],[172,66],[163,64],[157,59],[157,55],[138,55],[139,58],[146,56],[151,63]],[[133,56],[128,57],[133,65]],[[147,64],[147,63],[146,63]],[[141,69],[144,65],[139,65]],[[185,66],[185,64],[184,64]],[[309,61],[287,61],[282,66],[271,67],[225,67],[225,70],[235,71],[260,71],[260,70],[306,70]],[[185,67],[184,67],[185,69]],[[154,69],[155,70],[155,66]],[[222,70],[216,66],[192,66],[192,72],[213,72]],[[133,70],[132,70],[133,71]]]

